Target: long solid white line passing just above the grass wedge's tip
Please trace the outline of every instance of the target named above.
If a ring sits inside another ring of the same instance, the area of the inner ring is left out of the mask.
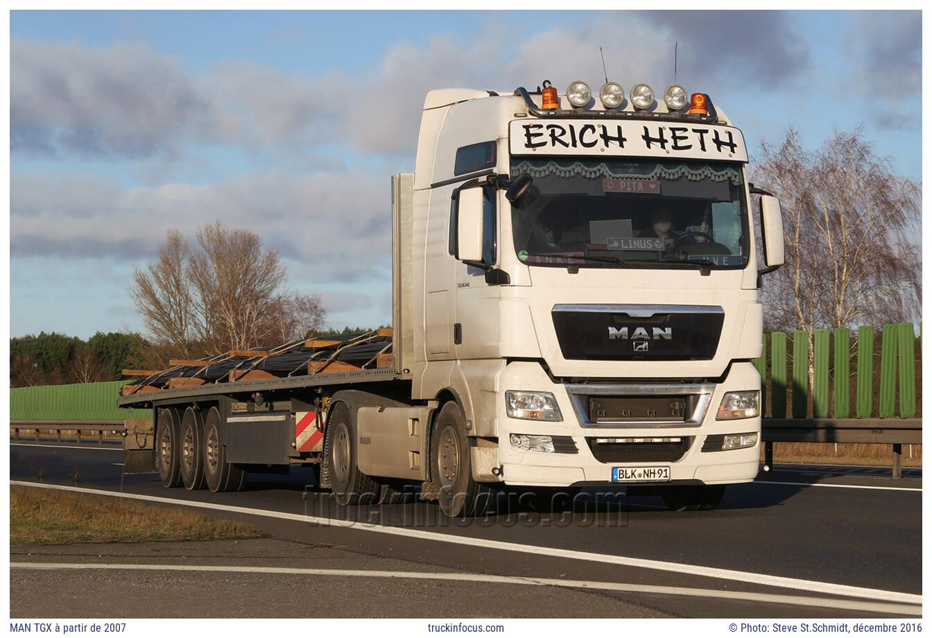
[[[376,532],[377,534],[387,534],[391,536],[406,536],[409,538],[420,538],[423,540],[433,540],[441,543],[450,543],[453,545],[465,545],[469,547],[478,547],[487,550],[504,550],[515,551],[526,554],[536,554],[542,556],[558,556],[560,558],[569,558],[578,561],[590,561],[593,563],[607,563],[624,565],[626,567],[638,567],[641,569],[655,569],[658,571],[672,572],[675,574],[689,574],[691,576],[719,578],[721,580],[734,580],[738,582],[764,585],[768,587],[779,587],[788,590],[814,591],[821,594],[835,596],[849,596],[853,598],[866,598],[877,601],[905,603],[905,604],[922,604],[922,596],[918,594],[906,593],[904,591],[874,590],[867,587],[855,587],[853,585],[842,585],[837,583],[827,583],[819,580],[804,580],[802,578],[790,578],[781,576],[772,576],[754,572],[741,572],[732,569],[722,569],[720,567],[709,567],[706,565],[692,565],[688,563],[669,563],[666,561],[656,561],[646,558],[637,558],[633,556],[616,556],[612,554],[596,554],[590,551],[565,550],[562,548],[540,547],[538,545],[522,545],[508,541],[492,540],[489,538],[470,538],[467,536],[453,536],[452,534],[441,534],[439,532],[428,532],[425,530],[409,529],[405,527],[391,527],[388,525],[378,525],[372,523],[357,523],[355,521],[341,521],[339,519],[325,519],[317,516],[308,516],[307,514],[292,514],[283,511],[274,511],[271,509],[254,509],[243,508],[234,505],[222,505],[220,503],[206,503],[194,500],[185,500],[182,498],[169,498],[166,496],[150,496],[141,494],[128,494],[120,492],[109,492],[106,490],[95,490],[88,487],[73,487],[71,485],[52,485],[49,483],[37,483],[28,481],[10,481],[11,485],[25,485],[29,487],[38,487],[48,490],[62,490],[65,492],[80,492],[83,494],[96,494],[103,496],[119,496],[121,498],[132,498],[136,500],[150,501],[153,503],[167,503],[170,505],[181,505],[187,507],[216,509],[219,511],[237,512],[253,516],[266,516],[286,521],[297,521],[299,523],[312,523],[318,525],[328,525],[331,527],[357,528],[365,532]]]

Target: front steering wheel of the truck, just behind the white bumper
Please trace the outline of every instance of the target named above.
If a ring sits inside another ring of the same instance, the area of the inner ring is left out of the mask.
[[[431,473],[440,509],[447,516],[481,516],[495,505],[495,487],[473,481],[466,417],[455,401],[447,401],[437,414],[431,436]]]

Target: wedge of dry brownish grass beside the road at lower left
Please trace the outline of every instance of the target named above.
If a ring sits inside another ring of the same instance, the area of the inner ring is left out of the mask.
[[[263,535],[245,523],[212,519],[189,509],[12,485],[9,536],[11,545],[63,545]]]

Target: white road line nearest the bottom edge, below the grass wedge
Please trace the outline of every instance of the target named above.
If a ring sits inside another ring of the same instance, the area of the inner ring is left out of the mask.
[[[408,578],[422,580],[453,580],[459,582],[498,583],[528,585],[532,587],[563,587],[580,590],[624,591],[625,593],[655,593],[670,596],[697,596],[702,598],[725,598],[755,603],[792,604],[809,607],[831,607],[834,609],[856,609],[881,614],[921,616],[922,606],[917,604],[868,603],[838,598],[815,596],[789,596],[784,594],[759,593],[756,591],[702,590],[689,587],[665,587],[640,583],[611,583],[594,580],[568,580],[565,578],[537,578],[496,576],[491,574],[454,574],[436,572],[387,572],[366,569],[313,569],[301,567],[264,567],[254,565],[172,565],[139,563],[16,563],[13,569],[111,569],[126,571],[170,571],[170,572],[223,572],[242,574],[289,574],[324,577],[362,578]]]

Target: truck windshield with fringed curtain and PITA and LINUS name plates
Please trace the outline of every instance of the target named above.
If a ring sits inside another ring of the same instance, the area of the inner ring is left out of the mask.
[[[528,265],[747,265],[739,165],[706,161],[513,158],[533,184],[512,207],[514,250]]]

